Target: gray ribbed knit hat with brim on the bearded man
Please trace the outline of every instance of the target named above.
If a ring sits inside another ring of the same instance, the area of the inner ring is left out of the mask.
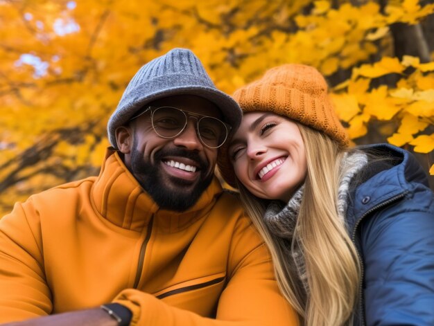
[[[107,125],[112,146],[117,148],[116,128],[128,123],[146,104],[182,94],[200,96],[213,102],[222,112],[225,122],[232,126],[232,134],[238,129],[242,114],[236,101],[216,89],[193,52],[174,48],[142,66],[128,84]]]

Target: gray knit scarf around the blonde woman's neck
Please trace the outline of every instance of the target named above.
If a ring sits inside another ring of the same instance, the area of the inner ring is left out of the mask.
[[[338,217],[342,224],[345,224],[345,215],[347,212],[347,198],[349,194],[349,184],[351,179],[367,164],[367,156],[362,152],[346,154],[342,159],[342,179],[338,187],[338,202],[336,208]],[[268,205],[264,220],[266,226],[272,235],[281,237],[287,240],[287,254],[295,264],[297,275],[300,282],[303,284],[304,295],[309,296],[309,285],[307,282],[306,264],[304,262],[304,254],[302,248],[297,241],[293,241],[297,217],[302,203],[304,185],[295,191],[293,197],[285,205],[282,201],[271,201]],[[291,245],[292,244],[292,245]]]

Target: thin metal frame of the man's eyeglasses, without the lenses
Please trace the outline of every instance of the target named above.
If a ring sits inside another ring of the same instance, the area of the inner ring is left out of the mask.
[[[184,114],[184,116],[185,116],[185,125],[184,125],[184,127],[182,127],[182,129],[180,130],[180,132],[178,132],[175,136],[170,136],[170,137],[162,136],[162,135],[160,135],[160,134],[157,132],[157,130],[155,129],[155,126],[154,126],[154,112],[157,111],[157,109],[161,109],[162,107],[168,107],[168,108],[171,108],[171,109],[177,109],[178,111],[181,111],[182,114]],[[144,111],[141,111],[140,114],[137,114],[137,115],[135,115],[135,116],[132,116],[132,118],[130,118],[130,120],[128,120],[128,122],[130,122],[130,121],[132,121],[132,120],[134,120],[134,119],[136,119],[136,118],[139,118],[139,116],[142,116],[143,114],[146,114],[146,112],[150,111],[150,123],[153,125],[153,129],[154,129],[155,134],[157,134],[159,137],[162,137],[162,138],[164,138],[164,139],[173,139],[173,138],[175,138],[175,137],[177,137],[177,136],[180,136],[180,134],[182,134],[182,132],[184,132],[186,126],[189,124],[189,118],[196,118],[196,127],[195,127],[195,129],[196,129],[196,135],[198,136],[200,142],[201,142],[203,145],[205,145],[205,146],[207,146],[208,148],[211,148],[211,149],[215,149],[215,148],[218,148],[218,147],[223,146],[223,144],[226,143],[226,141],[227,141],[227,137],[229,136],[229,133],[230,133],[231,130],[232,130],[232,126],[231,126],[231,125],[229,125],[228,123],[225,123],[224,121],[222,121],[222,120],[220,120],[220,119],[218,119],[218,118],[214,118],[214,116],[205,116],[205,115],[203,115],[203,114],[196,114],[195,112],[191,112],[191,111],[183,110],[183,109],[180,109],[180,108],[177,108],[177,107],[171,107],[171,106],[168,106],[168,105],[163,105],[162,107],[154,107],[153,105],[149,105],[149,106],[148,106]],[[220,121],[220,123],[222,123],[222,124],[225,126],[225,128],[226,128],[226,136],[225,136],[225,140],[224,140],[220,145],[218,145],[217,147],[212,147],[212,146],[207,145],[207,144],[202,140],[202,136],[200,136],[200,132],[199,132],[199,121],[200,121],[201,119],[203,119],[203,118],[212,118],[212,119],[216,119],[216,120]]]

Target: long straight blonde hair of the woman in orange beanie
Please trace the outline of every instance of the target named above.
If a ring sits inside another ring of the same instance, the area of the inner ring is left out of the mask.
[[[350,325],[361,267],[336,207],[346,150],[322,132],[297,125],[306,147],[307,174],[292,244],[273,236],[264,223],[268,201],[255,197],[237,180],[241,201],[268,246],[279,288],[300,321],[309,326]],[[290,259],[295,242],[304,253],[307,295]]]

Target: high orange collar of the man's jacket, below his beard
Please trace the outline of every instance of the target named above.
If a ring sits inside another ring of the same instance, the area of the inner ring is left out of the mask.
[[[184,212],[159,208],[125,167],[118,152],[109,148],[92,188],[94,208],[112,224],[141,232],[153,217],[162,232],[182,230],[211,210],[222,192],[214,177],[198,201]]]

